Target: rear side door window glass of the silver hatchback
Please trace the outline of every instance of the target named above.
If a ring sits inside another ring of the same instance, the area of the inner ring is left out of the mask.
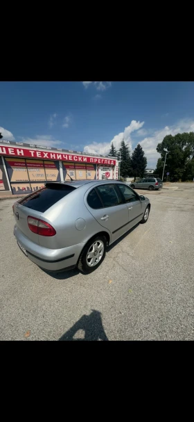
[[[116,191],[114,184],[101,185],[96,187],[96,191],[103,202],[103,206],[115,206],[122,204],[122,197]]]

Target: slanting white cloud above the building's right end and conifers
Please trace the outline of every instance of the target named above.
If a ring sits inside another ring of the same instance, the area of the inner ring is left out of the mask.
[[[111,147],[112,142],[114,143],[114,147],[119,149],[121,146],[121,140],[124,139],[125,143],[129,145],[130,150],[132,150],[132,140],[130,134],[134,131],[137,131],[143,126],[144,122],[136,122],[136,120],[132,120],[129,126],[125,127],[123,132],[118,133],[115,135],[114,138],[110,142],[104,143],[96,143],[93,142],[89,145],[86,145],[84,148],[84,152],[90,152],[91,154],[109,154],[109,149]]]

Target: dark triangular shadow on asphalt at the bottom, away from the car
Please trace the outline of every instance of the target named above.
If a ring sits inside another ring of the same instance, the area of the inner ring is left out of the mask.
[[[101,313],[92,309],[91,314],[83,315],[59,341],[108,341],[103,328]]]

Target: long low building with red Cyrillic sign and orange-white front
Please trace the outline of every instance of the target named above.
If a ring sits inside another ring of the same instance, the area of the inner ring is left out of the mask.
[[[109,156],[0,140],[0,195],[31,193],[46,181],[118,179]]]

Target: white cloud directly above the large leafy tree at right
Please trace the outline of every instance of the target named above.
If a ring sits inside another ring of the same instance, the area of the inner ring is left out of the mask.
[[[140,144],[145,152],[145,156],[148,160],[148,165],[155,168],[157,165],[157,159],[160,154],[157,152],[156,147],[158,143],[164,140],[166,135],[175,136],[177,133],[191,132],[194,131],[194,120],[182,119],[172,126],[166,126],[164,129],[154,131],[152,136],[144,138]]]

